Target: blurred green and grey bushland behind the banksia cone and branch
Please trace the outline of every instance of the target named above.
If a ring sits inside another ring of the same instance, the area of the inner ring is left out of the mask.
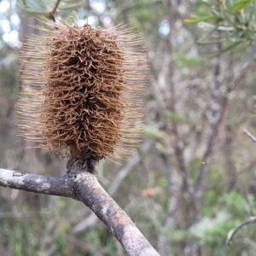
[[[61,1],[82,26],[123,22],[148,48],[147,111],[137,154],[102,160],[99,181],[160,255],[256,255],[256,1]],[[58,160],[16,137],[19,51],[55,1],[0,1],[0,167],[62,175]],[[0,255],[125,255],[72,199],[0,188]]]

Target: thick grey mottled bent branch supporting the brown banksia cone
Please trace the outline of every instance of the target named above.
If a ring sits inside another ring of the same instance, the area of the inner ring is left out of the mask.
[[[0,186],[82,201],[107,225],[128,255],[160,256],[90,172],[53,177],[0,169]]]

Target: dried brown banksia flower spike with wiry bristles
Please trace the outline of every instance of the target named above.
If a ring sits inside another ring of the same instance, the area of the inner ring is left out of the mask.
[[[46,36],[29,36],[21,51],[18,134],[53,154],[127,158],[143,131],[142,36],[43,21]]]

